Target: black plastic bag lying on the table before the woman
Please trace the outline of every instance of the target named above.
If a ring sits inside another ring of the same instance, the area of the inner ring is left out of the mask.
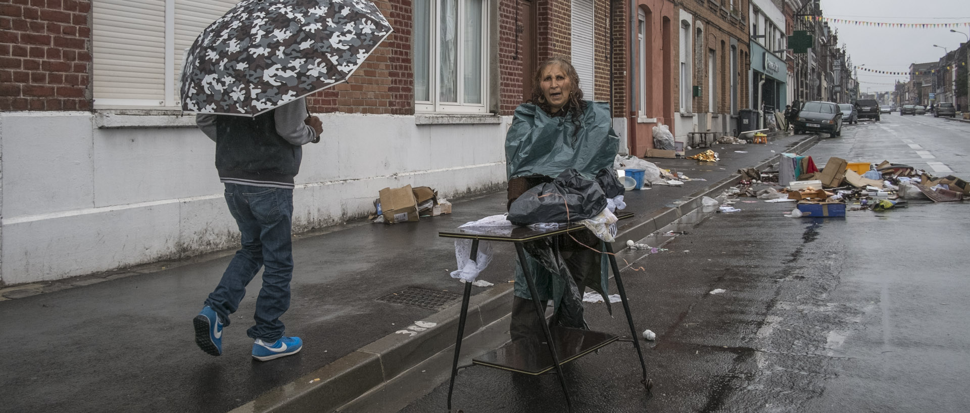
[[[570,169],[513,201],[508,220],[515,225],[574,223],[590,219],[605,208],[606,196],[597,181]]]

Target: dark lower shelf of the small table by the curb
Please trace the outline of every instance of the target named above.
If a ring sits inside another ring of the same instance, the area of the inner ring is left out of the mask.
[[[560,365],[565,365],[566,363],[583,357],[620,338],[616,334],[570,329],[567,327],[551,327],[549,330],[553,336]],[[553,365],[552,355],[549,354],[549,346],[544,341],[541,341],[541,332],[536,333],[539,333],[539,339],[537,340],[509,342],[497,350],[473,359],[471,364],[485,365],[531,375],[538,375],[549,371],[556,366]]]

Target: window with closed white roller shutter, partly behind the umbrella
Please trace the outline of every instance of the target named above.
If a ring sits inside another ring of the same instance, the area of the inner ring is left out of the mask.
[[[233,0],[93,0],[95,109],[179,109],[182,52]]]

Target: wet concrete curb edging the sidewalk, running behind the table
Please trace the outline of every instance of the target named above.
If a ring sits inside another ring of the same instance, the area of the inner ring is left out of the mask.
[[[812,136],[786,150],[803,151],[819,140],[818,136]],[[755,168],[766,169],[777,163],[781,156],[781,153],[777,153],[760,162]],[[618,228],[619,234],[613,242],[614,251],[625,248],[628,239],[645,238],[680,219],[700,207],[703,197],[716,197],[738,180],[740,175],[728,175],[717,183],[680,198],[678,201],[681,204],[678,206],[663,207],[645,219],[641,218],[642,221],[637,219],[637,222]],[[512,284],[496,284],[491,289],[472,296],[464,335],[474,334],[508,315],[508,302],[511,301],[512,291]],[[436,323],[435,327],[427,331],[414,335],[384,336],[330,365],[260,395],[230,413],[335,411],[355,398],[379,389],[408,368],[419,365],[442,351],[449,351],[458,334],[460,313],[461,305],[452,305],[423,320]]]

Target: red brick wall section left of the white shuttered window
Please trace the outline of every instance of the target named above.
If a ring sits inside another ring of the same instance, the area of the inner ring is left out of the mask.
[[[0,0],[0,111],[91,108],[88,0]]]

